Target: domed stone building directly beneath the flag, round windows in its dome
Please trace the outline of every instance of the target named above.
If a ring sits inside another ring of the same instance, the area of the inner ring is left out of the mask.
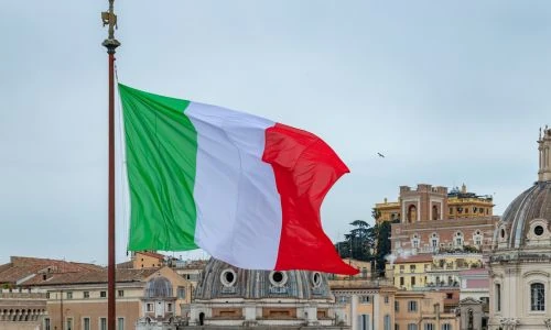
[[[182,316],[186,329],[349,329],[324,274],[242,270],[215,258]]]

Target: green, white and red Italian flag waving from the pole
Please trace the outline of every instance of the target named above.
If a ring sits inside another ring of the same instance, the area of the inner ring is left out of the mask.
[[[129,250],[201,248],[241,268],[356,274],[320,207],[349,172],[312,133],[119,84]]]

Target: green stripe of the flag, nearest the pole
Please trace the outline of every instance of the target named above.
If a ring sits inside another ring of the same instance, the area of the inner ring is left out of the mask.
[[[130,187],[130,251],[192,250],[197,132],[190,101],[119,84]]]

